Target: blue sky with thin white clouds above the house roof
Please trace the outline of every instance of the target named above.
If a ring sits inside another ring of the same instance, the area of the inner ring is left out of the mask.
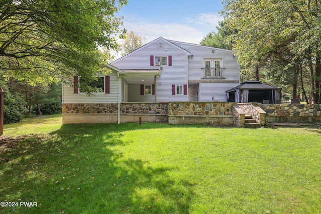
[[[127,31],[145,37],[147,42],[163,37],[199,44],[223,17],[222,0],[128,0],[117,14]]]

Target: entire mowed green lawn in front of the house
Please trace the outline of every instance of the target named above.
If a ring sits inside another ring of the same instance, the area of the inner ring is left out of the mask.
[[[321,213],[319,128],[61,124],[5,126],[0,212]]]

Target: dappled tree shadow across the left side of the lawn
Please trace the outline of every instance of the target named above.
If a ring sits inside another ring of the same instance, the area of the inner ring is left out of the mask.
[[[172,178],[173,167],[151,167],[114,149],[130,143],[122,140],[125,130],[126,125],[63,125],[48,135],[1,139],[0,198],[37,207],[0,212],[188,213],[194,184]]]

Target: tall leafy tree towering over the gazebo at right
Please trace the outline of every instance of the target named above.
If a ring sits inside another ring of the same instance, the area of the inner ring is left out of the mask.
[[[226,0],[224,15],[231,35],[233,50],[241,65],[260,70],[272,61],[283,60],[275,72],[293,77],[296,95],[300,66],[310,72],[310,87],[315,103],[321,101],[321,2],[301,0]],[[303,77],[303,76],[302,76]]]

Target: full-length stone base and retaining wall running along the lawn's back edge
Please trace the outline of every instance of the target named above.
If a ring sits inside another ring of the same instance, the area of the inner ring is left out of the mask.
[[[63,124],[117,123],[117,103],[63,104]],[[168,122],[244,126],[246,115],[257,123],[321,122],[320,104],[257,104],[232,102],[121,103],[120,122]]]

